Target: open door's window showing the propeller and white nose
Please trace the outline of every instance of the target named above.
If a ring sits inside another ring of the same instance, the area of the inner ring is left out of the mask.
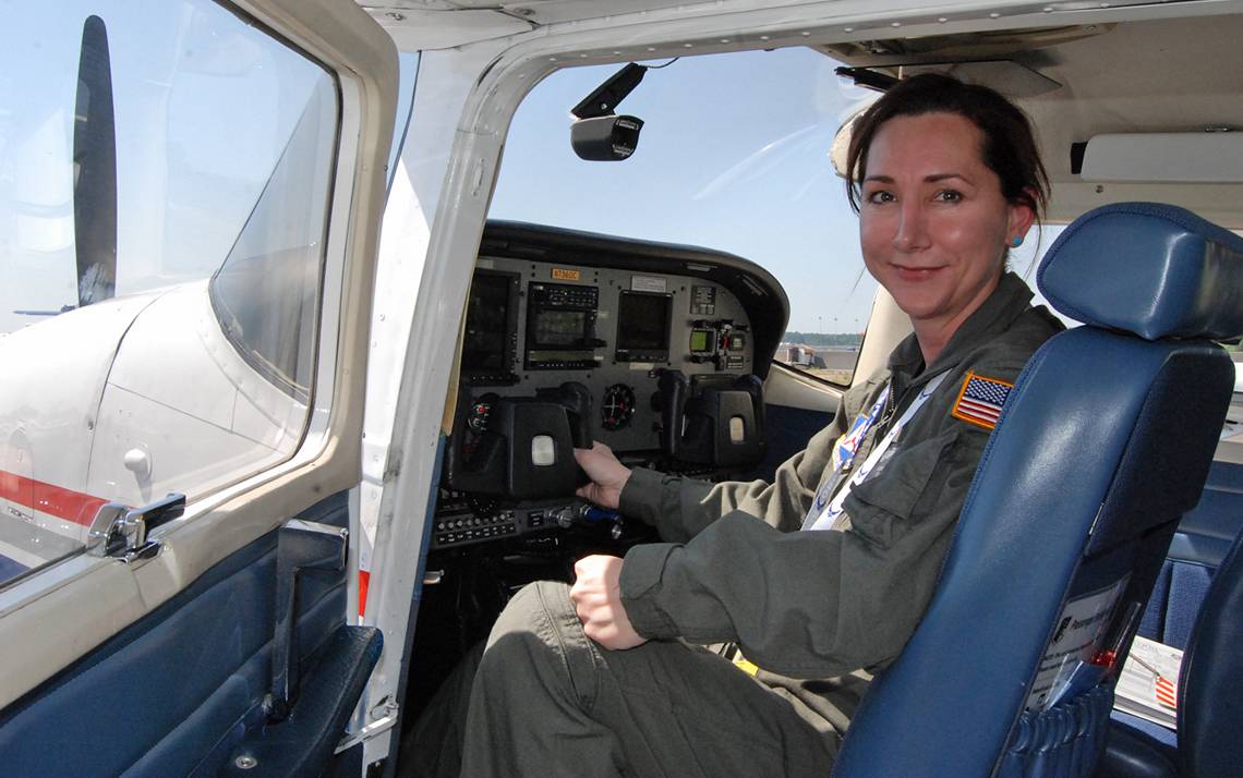
[[[332,75],[209,0],[0,27],[0,585],[107,501],[292,456],[312,389]]]

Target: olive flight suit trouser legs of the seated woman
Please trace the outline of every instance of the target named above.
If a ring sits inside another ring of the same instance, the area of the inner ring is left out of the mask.
[[[805,706],[706,649],[602,649],[561,583],[523,588],[477,657],[445,681],[408,739],[415,753],[401,762],[416,774],[454,774],[460,744],[470,777],[823,777],[839,744]]]

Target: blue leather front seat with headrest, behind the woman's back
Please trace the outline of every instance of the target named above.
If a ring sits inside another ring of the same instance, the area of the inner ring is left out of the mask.
[[[1085,326],[1019,377],[927,613],[865,696],[834,778],[1086,776],[1104,748],[1111,657],[1231,399],[1213,341],[1243,334],[1243,240],[1177,208],[1106,206],[1063,231],[1038,283]],[[1078,691],[1024,710],[1062,659],[1091,660]]]

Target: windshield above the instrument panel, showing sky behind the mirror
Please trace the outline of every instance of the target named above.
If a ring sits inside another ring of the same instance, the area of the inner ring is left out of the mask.
[[[789,298],[776,358],[849,384],[876,285],[828,153],[842,122],[876,93],[843,82],[837,65],[784,48],[653,70],[617,109],[645,122],[620,163],[578,159],[566,119],[618,66],[552,73],[513,118],[490,216],[756,262]]]

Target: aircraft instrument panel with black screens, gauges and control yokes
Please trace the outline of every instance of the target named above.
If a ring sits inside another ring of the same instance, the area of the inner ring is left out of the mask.
[[[707,477],[755,464],[786,311],[776,281],[731,255],[491,222],[434,544],[582,518],[573,449],[593,440]]]

